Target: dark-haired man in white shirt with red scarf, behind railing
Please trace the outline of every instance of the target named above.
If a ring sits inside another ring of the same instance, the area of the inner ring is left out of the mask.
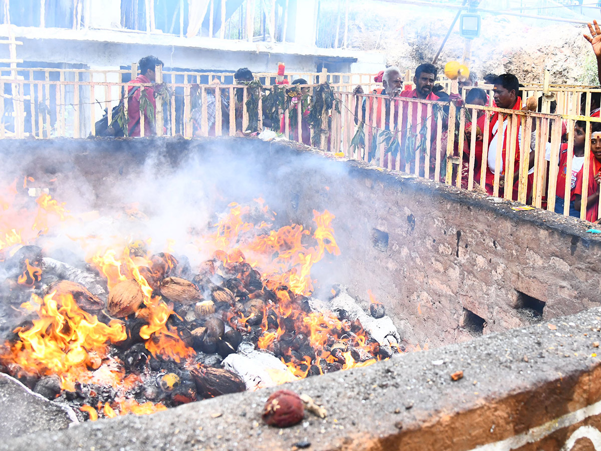
[[[498,108],[504,109],[522,109],[522,99],[518,96],[519,82],[515,75],[505,73],[499,75],[495,81],[495,103]],[[485,188],[489,194],[493,194],[493,184],[495,180],[495,172],[499,173],[499,197],[504,195],[505,191],[505,156],[510,150],[510,133],[511,130],[508,127],[508,117],[505,117],[499,112],[495,112],[490,117],[490,131],[489,131],[489,151],[487,158],[487,169],[486,169],[486,180]],[[501,161],[499,167],[496,167],[497,147],[498,140],[502,140],[501,145]],[[520,143],[522,143],[522,126],[521,123],[517,124],[516,142],[514,143],[516,152],[514,158],[513,174],[511,174],[509,180],[513,189],[512,198],[517,200],[517,192],[519,187],[519,169],[520,169]],[[534,152],[529,152],[528,168],[534,167]],[[528,195],[532,188],[532,176],[528,176]]]

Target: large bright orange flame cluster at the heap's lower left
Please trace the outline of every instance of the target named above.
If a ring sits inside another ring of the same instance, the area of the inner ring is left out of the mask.
[[[126,339],[125,327],[117,320],[108,325],[78,307],[73,296],[49,293],[40,298],[32,294],[29,308],[34,308],[38,319],[30,328],[19,327],[15,332],[20,340],[14,345],[5,343],[0,353],[4,364],[15,363],[19,373],[29,375],[56,374],[61,388],[74,390],[75,382],[93,377],[91,352],[104,358],[108,342]],[[35,305],[37,304],[37,308]]]

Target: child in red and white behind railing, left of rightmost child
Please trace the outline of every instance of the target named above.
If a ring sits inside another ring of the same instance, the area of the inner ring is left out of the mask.
[[[576,209],[574,200],[576,197],[576,179],[578,179],[578,175],[582,173],[582,166],[584,165],[586,127],[587,123],[585,121],[576,121],[574,127],[574,157],[572,158],[572,176],[570,177],[570,216],[575,218],[580,217],[580,211]],[[555,191],[555,213],[563,215],[567,179],[567,144],[562,144],[559,158],[557,191]]]

